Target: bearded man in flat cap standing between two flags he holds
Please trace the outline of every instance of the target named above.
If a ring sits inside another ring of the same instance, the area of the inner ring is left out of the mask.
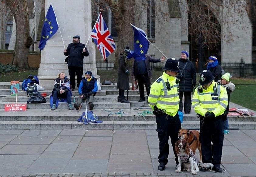
[[[68,44],[67,49],[64,49],[64,55],[68,56],[67,68],[70,76],[70,90],[74,91],[75,76],[77,77],[77,87],[79,87],[83,75],[84,56],[89,56],[85,44],[80,43],[80,36],[73,37],[73,43]]]

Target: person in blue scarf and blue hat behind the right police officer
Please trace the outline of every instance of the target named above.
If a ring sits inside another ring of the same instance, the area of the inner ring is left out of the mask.
[[[221,66],[218,63],[218,59],[215,56],[209,57],[209,63],[207,65],[207,70],[210,70],[215,77],[214,81],[218,82],[221,79]]]

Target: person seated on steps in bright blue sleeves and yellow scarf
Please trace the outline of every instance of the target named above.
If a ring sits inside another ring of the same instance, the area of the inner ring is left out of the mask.
[[[88,100],[89,110],[92,110],[93,105],[93,98],[97,93],[98,86],[97,86],[97,79],[92,76],[91,71],[87,71],[85,73],[85,77],[82,78],[81,83],[78,87],[78,93],[80,97],[78,97],[78,103],[74,104],[76,110],[79,109],[82,101]]]

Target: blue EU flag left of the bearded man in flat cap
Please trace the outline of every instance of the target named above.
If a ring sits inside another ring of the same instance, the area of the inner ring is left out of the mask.
[[[58,30],[59,24],[54,13],[52,5],[50,5],[43,22],[43,28],[38,48],[42,50],[49,40]]]

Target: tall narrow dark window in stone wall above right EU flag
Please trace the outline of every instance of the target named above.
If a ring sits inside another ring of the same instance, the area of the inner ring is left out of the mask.
[[[154,0],[148,0],[147,5],[147,37],[155,38],[156,7]]]

